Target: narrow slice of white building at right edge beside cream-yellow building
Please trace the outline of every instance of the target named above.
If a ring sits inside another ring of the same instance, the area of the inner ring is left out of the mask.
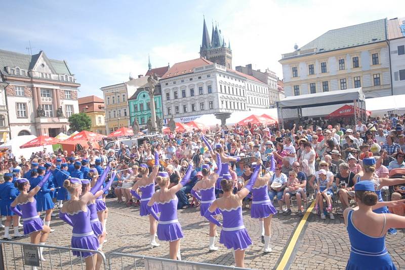
[[[392,94],[405,93],[405,17],[388,20]]]

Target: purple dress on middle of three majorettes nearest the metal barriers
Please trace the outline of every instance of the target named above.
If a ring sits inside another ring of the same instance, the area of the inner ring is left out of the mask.
[[[161,209],[157,224],[157,238],[160,241],[176,241],[184,237],[177,220],[177,196],[167,202],[157,202]]]

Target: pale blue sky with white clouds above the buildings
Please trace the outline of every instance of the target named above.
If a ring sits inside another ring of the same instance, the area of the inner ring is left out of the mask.
[[[8,1],[2,4],[0,48],[44,50],[66,60],[79,96],[152,67],[199,57],[205,15],[230,40],[233,68],[253,64],[282,78],[281,53],[335,28],[405,16],[405,1]],[[395,8],[393,8],[395,7]],[[402,12],[402,14],[397,14]]]

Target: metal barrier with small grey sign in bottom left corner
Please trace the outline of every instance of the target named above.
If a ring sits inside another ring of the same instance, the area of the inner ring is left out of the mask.
[[[44,248],[46,261],[39,259],[39,247]],[[99,250],[89,250],[71,247],[36,245],[13,241],[0,241],[0,270],[32,269],[86,269],[83,257],[73,256],[71,251],[91,252],[101,256],[100,269],[107,270],[108,264],[104,253]]]

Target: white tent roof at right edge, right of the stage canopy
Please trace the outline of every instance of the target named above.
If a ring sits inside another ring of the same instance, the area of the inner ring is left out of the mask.
[[[405,113],[405,94],[390,95],[366,99],[366,109],[373,117],[384,116],[387,113]]]

